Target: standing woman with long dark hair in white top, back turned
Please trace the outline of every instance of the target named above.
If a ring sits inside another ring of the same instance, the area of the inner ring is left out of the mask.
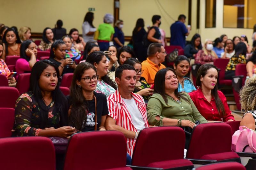
[[[84,42],[92,41],[96,28],[93,26],[92,21],[94,19],[93,12],[87,12],[84,16],[84,23],[82,25]]]

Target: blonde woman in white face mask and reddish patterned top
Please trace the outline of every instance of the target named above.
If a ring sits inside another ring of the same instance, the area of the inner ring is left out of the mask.
[[[196,64],[213,64],[213,60],[217,59],[218,56],[213,51],[212,40],[206,39],[203,50],[199,50],[195,57]]]

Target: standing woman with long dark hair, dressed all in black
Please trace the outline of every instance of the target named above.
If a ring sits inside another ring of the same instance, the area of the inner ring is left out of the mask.
[[[135,28],[132,31],[133,50],[140,62],[146,60],[147,58],[147,48],[144,46],[143,42],[143,38],[147,34],[144,26],[144,20],[139,18],[136,21]]]

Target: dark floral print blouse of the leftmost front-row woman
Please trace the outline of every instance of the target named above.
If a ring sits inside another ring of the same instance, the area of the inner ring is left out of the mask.
[[[38,136],[40,126],[40,107],[32,92],[22,94],[15,105],[14,130],[18,136]],[[54,102],[48,106],[48,121],[45,128],[59,128],[60,113],[54,113]]]

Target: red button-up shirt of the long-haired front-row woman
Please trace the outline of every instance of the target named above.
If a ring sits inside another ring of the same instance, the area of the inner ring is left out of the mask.
[[[212,96],[211,102],[208,102],[204,97],[204,94],[200,88],[197,89],[196,91],[189,93],[189,96],[191,97],[194,104],[196,105],[196,108],[206,120],[223,121],[223,122],[226,122],[229,119],[235,120],[234,116],[231,115],[231,111],[229,110],[227,99],[224,96],[224,94],[218,90],[218,95],[221,102],[224,105],[226,116],[222,115],[221,110],[219,114],[218,109],[216,107],[214,96]]]

